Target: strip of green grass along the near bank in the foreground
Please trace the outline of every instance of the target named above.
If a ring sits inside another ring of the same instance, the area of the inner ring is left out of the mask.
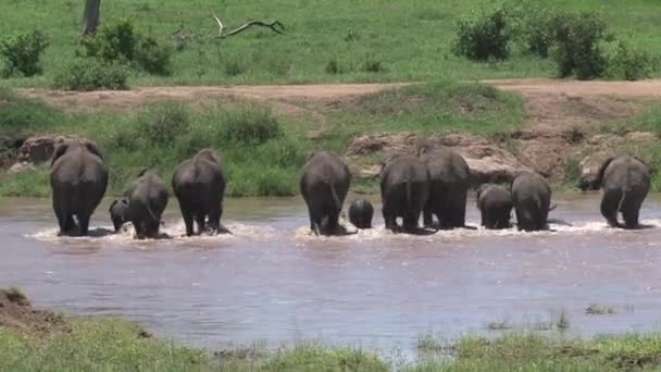
[[[71,333],[45,337],[0,326],[2,371],[632,371],[661,367],[661,335],[581,339],[532,332],[425,339],[417,361],[301,343],[209,352],[146,337],[119,319],[73,320]]]

